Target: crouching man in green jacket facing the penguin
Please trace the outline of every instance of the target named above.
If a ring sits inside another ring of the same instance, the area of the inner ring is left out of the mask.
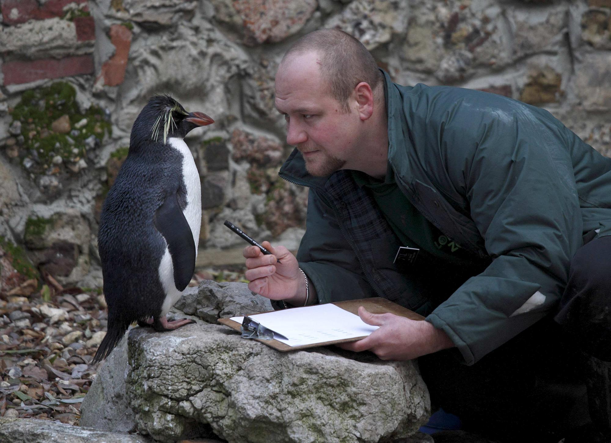
[[[276,107],[296,146],[280,176],[310,188],[306,232],[297,257],[244,249],[251,290],[291,306],[378,296],[425,315],[360,308],[380,328],[342,347],[419,358],[436,405],[520,441],[587,421],[569,412],[579,368],[551,320],[562,298],[558,321],[594,369],[592,435],[611,441],[611,159],[536,107],[393,84],[332,29],[285,54]],[[399,247],[419,252],[401,261]]]

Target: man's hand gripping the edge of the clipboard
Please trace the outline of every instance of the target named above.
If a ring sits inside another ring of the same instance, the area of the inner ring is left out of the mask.
[[[454,346],[444,331],[423,320],[410,320],[390,313],[371,314],[362,306],[359,317],[379,328],[362,340],[337,346],[356,352],[368,350],[382,360],[411,360]]]

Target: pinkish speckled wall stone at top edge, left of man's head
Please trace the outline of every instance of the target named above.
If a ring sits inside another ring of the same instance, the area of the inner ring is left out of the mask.
[[[242,33],[244,44],[282,41],[312,16],[316,0],[213,0],[216,19]]]

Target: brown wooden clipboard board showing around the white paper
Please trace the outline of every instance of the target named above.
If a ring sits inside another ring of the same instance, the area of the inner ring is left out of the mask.
[[[336,301],[335,306],[338,308],[345,309],[348,312],[352,312],[355,315],[359,315],[359,306],[363,306],[367,311],[372,314],[386,314],[386,312],[390,312],[390,314],[400,315],[401,317],[406,317],[411,320],[424,320],[424,317],[420,314],[416,314],[414,311],[410,311],[407,308],[403,308],[400,304],[393,303],[390,300],[386,300],[386,298],[374,297],[374,298],[360,298],[359,300],[346,300],[346,301]],[[252,314],[254,315],[254,314]],[[240,327],[242,326],[238,322],[234,322],[229,318],[218,319],[218,323],[221,325],[229,326],[235,331],[241,332]],[[315,343],[311,345],[301,345],[301,346],[289,346],[285,343],[279,342],[278,340],[262,340],[262,339],[253,339],[258,342],[263,343],[264,345],[268,345],[276,350],[286,352],[286,351],[296,351],[299,349],[305,348],[314,348],[318,346],[327,346],[334,345],[337,343],[345,343],[345,342],[356,342],[357,340],[364,339],[367,336],[362,337],[354,337],[351,339],[343,339],[343,340],[332,340],[330,342],[321,342]]]

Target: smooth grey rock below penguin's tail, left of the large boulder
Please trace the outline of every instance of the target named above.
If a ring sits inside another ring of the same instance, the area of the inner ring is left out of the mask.
[[[134,413],[125,397],[127,335],[98,367],[89,392],[81,403],[81,426],[104,431],[133,432]]]

